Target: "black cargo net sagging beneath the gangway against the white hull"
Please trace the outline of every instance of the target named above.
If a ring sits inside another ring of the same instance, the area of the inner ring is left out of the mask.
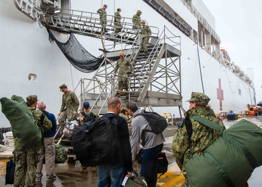
[[[84,73],[94,72],[99,68],[100,64],[103,62],[103,54],[97,58],[91,55],[84,49],[83,46],[81,46],[81,44],[77,41],[73,33],[70,34],[70,37],[67,42],[62,43],[54,37],[54,35],[47,26],[46,29],[49,33],[48,40],[50,41],[50,43],[53,44],[55,41],[60,50],[64,53],[65,57],[68,59],[68,61],[79,71]],[[109,64],[108,61],[107,64]],[[104,65],[105,63],[102,66]]]

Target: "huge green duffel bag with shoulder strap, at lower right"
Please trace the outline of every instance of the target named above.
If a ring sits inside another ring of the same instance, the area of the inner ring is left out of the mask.
[[[222,127],[200,116],[194,119],[214,130]],[[223,131],[220,137],[200,156],[193,156],[185,165],[190,186],[241,186],[253,170],[262,165],[262,129],[245,119]]]

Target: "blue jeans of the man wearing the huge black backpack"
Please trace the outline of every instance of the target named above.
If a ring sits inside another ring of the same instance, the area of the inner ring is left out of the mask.
[[[124,166],[97,166],[98,187],[121,187],[124,176],[127,175]]]

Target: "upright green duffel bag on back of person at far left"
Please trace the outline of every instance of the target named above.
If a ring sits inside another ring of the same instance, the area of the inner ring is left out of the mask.
[[[23,97],[15,96],[13,100],[3,97],[0,102],[1,110],[9,120],[18,143],[23,149],[32,147],[41,141],[41,130]]]

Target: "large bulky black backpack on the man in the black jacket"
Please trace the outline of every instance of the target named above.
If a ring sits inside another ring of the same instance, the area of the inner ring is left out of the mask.
[[[72,145],[81,165],[105,165],[117,157],[120,143],[110,118],[93,118],[73,129]]]

